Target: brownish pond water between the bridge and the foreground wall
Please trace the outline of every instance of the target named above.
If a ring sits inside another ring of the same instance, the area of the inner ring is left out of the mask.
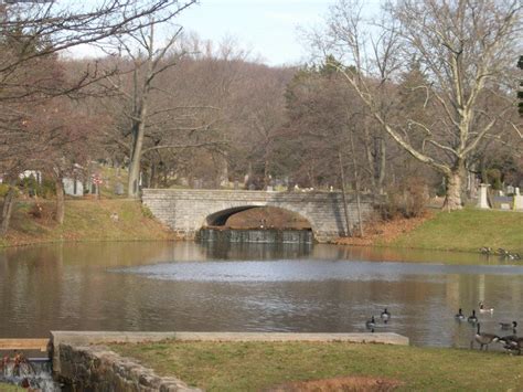
[[[444,264],[445,263],[445,264]],[[83,243],[0,251],[0,338],[50,330],[365,331],[468,347],[457,322],[523,328],[523,265],[476,254],[247,243]]]

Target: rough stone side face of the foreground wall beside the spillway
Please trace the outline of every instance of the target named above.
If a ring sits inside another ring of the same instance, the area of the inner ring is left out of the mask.
[[[200,391],[171,377],[159,377],[151,369],[124,358],[103,346],[60,345],[60,378],[74,391],[174,392]]]

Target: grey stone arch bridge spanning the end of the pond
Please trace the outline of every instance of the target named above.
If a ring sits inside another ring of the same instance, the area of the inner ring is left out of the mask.
[[[142,202],[182,237],[195,239],[202,227],[225,224],[228,216],[256,206],[292,211],[309,221],[314,239],[329,242],[346,231],[341,192],[266,192],[238,190],[143,189]],[[356,202],[348,195],[349,221],[357,222]],[[373,210],[371,197],[361,200],[362,216]]]

